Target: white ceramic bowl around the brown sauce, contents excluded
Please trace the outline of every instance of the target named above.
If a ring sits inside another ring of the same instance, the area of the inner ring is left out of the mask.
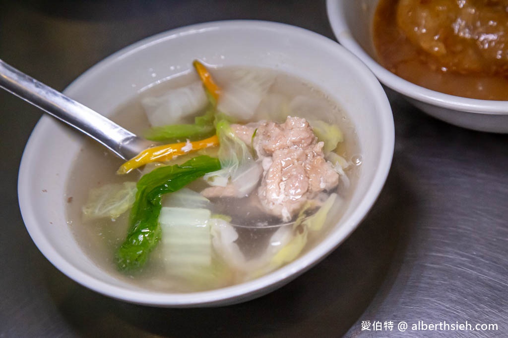
[[[372,21],[378,0],[327,0],[328,18],[339,43],[358,56],[384,85],[405,95],[427,114],[448,123],[508,133],[508,101],[477,100],[439,93],[399,78],[377,63]]]

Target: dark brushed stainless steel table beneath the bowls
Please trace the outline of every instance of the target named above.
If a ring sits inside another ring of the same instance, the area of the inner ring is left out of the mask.
[[[143,37],[223,19],[285,22],[334,39],[323,1],[0,0],[0,58],[62,90]],[[393,166],[345,243],[254,301],[157,309],[92,292],[37,250],[16,182],[41,112],[0,91],[0,337],[508,336],[508,135],[448,125],[387,93],[396,124]],[[420,330],[411,330],[419,321]],[[443,322],[449,326],[423,330]],[[451,329],[466,322],[466,329],[497,330]]]

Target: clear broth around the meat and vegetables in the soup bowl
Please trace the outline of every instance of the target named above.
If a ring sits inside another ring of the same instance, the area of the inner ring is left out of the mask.
[[[226,87],[231,79],[235,78],[235,74],[243,70],[241,68],[218,68],[211,69],[211,73],[219,86]],[[248,70],[258,71],[256,68],[249,68]],[[263,71],[266,72],[267,70]],[[234,245],[229,243],[224,248],[217,249],[215,246],[216,238],[212,234],[209,236],[205,234],[204,239],[200,237],[200,240],[203,240],[204,244],[199,245],[199,250],[203,250],[205,253],[189,253],[189,255],[196,254],[202,256],[206,254],[207,257],[209,256],[209,259],[205,259],[207,263],[205,267],[202,267],[203,259],[201,256],[198,258],[181,257],[182,261],[188,258],[190,261],[189,265],[201,259],[201,265],[198,264],[197,269],[189,272],[187,270],[183,271],[181,266],[178,266],[178,262],[171,262],[172,259],[178,257],[178,253],[173,254],[172,257],[168,256],[168,251],[165,249],[167,246],[163,244],[166,241],[161,240],[161,243],[157,244],[153,251],[151,251],[147,263],[141,269],[135,272],[120,271],[117,267],[115,252],[128,234],[130,228],[130,210],[114,218],[89,219],[89,217],[83,214],[83,206],[89,199],[91,189],[96,189],[106,184],[137,182],[141,177],[141,173],[147,170],[141,168],[125,175],[116,174],[118,167],[123,161],[109,153],[100,144],[87,139],[83,142],[81,151],[74,161],[65,198],[67,202],[68,222],[75,235],[75,239],[82,250],[97,266],[111,275],[141,288],[164,292],[193,292],[234,285],[260,277],[296,259],[327,236],[332,224],[338,221],[345,210],[347,201],[358,179],[359,165],[361,164],[361,149],[359,149],[355,128],[339,104],[332,101],[326,93],[316,86],[286,73],[273,70],[270,70],[270,72],[272,73],[273,81],[265,97],[263,97],[256,108],[256,112],[250,122],[270,120],[276,123],[283,123],[286,117],[290,115],[321,120],[327,124],[338,126],[343,133],[343,141],[338,143],[333,152],[344,159],[347,162],[347,166],[343,168],[345,175],[340,176],[338,185],[333,190],[325,192],[327,197],[335,194],[336,198],[326,214],[324,226],[312,228],[312,230],[310,226],[306,228],[305,224],[298,227],[290,224],[289,226],[284,226],[287,228],[284,234],[280,231],[280,227],[265,227],[266,224],[284,222],[274,215],[267,215],[256,206],[256,192],[259,188],[256,188],[247,197],[210,198],[211,213],[227,215],[228,217],[223,218],[229,224],[233,224],[228,229],[233,229],[234,233],[236,233],[235,236],[238,237],[233,241]],[[164,95],[164,93],[172,89],[187,86],[197,81],[199,81],[198,76],[193,72],[188,72],[183,76],[156,84],[141,91],[135,99],[118,107],[111,118],[126,129],[138,135],[143,135],[150,128],[150,124],[145,114],[142,100],[147,97]],[[294,104],[294,102],[300,103]],[[290,109],[293,109],[293,111]],[[198,111],[192,116],[185,117],[179,123],[193,123],[194,117],[200,114],[203,114],[203,111]],[[210,156],[217,154],[216,149],[208,149],[206,153]],[[184,155],[174,159],[169,164],[182,163],[193,156],[195,154]],[[197,179],[189,184],[187,189],[199,192],[203,189],[203,186],[206,186],[203,179]],[[297,218],[298,213],[293,215],[292,221]],[[277,231],[282,235],[279,236]],[[223,236],[221,238],[224,240],[226,235],[224,233],[221,235]],[[162,238],[165,236],[164,228],[161,236]],[[287,236],[289,236],[289,239]],[[285,238],[285,240],[280,240],[280,238]],[[285,244],[279,243],[284,241]],[[191,243],[189,245],[192,246],[194,244]],[[188,248],[189,245],[186,245],[186,247]],[[292,245],[293,252],[282,257],[281,248],[277,248],[277,245]],[[298,248],[295,249],[295,247]],[[235,248],[240,253],[235,251]],[[227,257],[225,258],[224,255],[227,255]],[[241,257],[239,258],[238,256]],[[210,262],[209,265],[208,262]],[[177,264],[177,266],[175,267],[171,264]]]

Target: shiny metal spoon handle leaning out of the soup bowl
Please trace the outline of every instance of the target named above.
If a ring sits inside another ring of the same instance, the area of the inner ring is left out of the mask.
[[[0,87],[96,139],[124,160],[133,158],[151,145],[150,141],[136,136],[1,59]]]

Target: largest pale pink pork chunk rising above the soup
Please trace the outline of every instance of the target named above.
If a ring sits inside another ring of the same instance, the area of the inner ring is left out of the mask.
[[[258,189],[260,204],[283,221],[291,220],[306,201],[338,184],[338,173],[324,158],[324,143],[317,142],[305,119],[264,123],[253,145],[265,170]]]

